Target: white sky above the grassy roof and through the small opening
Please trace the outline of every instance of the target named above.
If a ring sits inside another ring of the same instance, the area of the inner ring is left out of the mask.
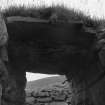
[[[83,11],[84,14],[97,18],[105,18],[105,0],[0,0],[0,8],[10,5],[51,6],[64,5],[68,8]],[[28,81],[37,80],[53,75],[26,73]]]

